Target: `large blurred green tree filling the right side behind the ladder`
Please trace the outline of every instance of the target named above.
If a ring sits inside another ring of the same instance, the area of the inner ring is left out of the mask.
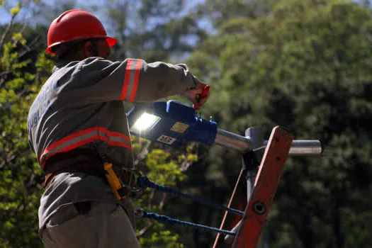
[[[271,247],[368,247],[371,10],[351,1],[278,1],[270,9],[231,18],[190,58],[218,89],[207,112],[236,133],[258,125],[269,135],[283,125],[325,144],[322,157],[287,162],[269,215]],[[213,150],[220,163],[210,170],[230,178],[236,160]]]

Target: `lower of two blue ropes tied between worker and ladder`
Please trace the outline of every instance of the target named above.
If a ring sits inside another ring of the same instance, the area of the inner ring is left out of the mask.
[[[185,225],[185,226],[188,226],[188,227],[194,227],[194,228],[199,228],[199,229],[208,230],[208,231],[212,231],[212,232],[218,232],[218,233],[221,233],[221,234],[224,234],[224,235],[232,235],[232,236],[236,235],[236,232],[221,230],[221,229],[218,229],[218,228],[215,228],[215,227],[208,227],[207,225],[195,224],[195,223],[187,222],[187,221],[184,221],[184,220],[173,219],[173,218],[169,218],[166,215],[158,215],[157,213],[150,213],[150,212],[147,212],[143,209],[141,209],[141,211],[142,211],[142,217],[141,218],[150,218],[150,219],[154,219],[154,220],[160,220],[160,221],[163,221],[163,222],[168,222],[170,224],[181,224],[181,225]]]

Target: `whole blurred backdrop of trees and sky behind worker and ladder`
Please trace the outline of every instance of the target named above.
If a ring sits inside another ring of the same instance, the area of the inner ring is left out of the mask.
[[[43,173],[26,120],[53,66],[48,26],[72,8],[96,14],[118,38],[112,60],[188,64],[211,86],[201,113],[219,128],[260,127],[268,139],[281,125],[297,140],[322,141],[322,156],[286,163],[266,225],[270,248],[371,247],[372,9],[346,0],[0,0],[0,247],[43,247]],[[152,181],[220,204],[242,168],[241,154],[223,147],[137,137],[133,146]],[[154,191],[135,204],[213,227],[224,215]],[[212,247],[215,236],[153,220],[137,226],[142,247]]]

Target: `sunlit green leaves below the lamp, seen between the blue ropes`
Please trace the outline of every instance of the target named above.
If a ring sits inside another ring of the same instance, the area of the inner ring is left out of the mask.
[[[133,140],[133,147],[136,154],[143,154],[145,147],[142,145],[148,143],[137,142],[137,138]],[[186,179],[184,171],[190,164],[198,160],[198,156],[193,154],[191,145],[184,147],[185,149],[167,149],[157,148],[154,145],[145,157],[142,157],[142,162],[139,167],[142,173],[145,173],[151,181],[164,186],[176,187],[177,184]],[[136,157],[140,157],[137,155]],[[138,161],[138,160],[137,160]],[[169,194],[147,190],[142,197],[135,202],[136,205],[153,211],[154,213],[163,214],[163,208],[166,201],[169,201]],[[142,220],[138,223],[137,233],[142,247],[183,247],[180,241],[180,235],[174,234],[173,230],[167,230],[169,227],[162,222],[154,220]]]

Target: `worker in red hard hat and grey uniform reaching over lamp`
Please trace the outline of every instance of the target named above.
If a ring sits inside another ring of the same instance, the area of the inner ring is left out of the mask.
[[[52,21],[52,75],[28,113],[28,139],[45,172],[39,235],[45,247],[139,247],[130,197],[118,200],[104,176],[135,169],[123,101],[184,94],[202,106],[205,84],[185,64],[108,60],[117,40],[93,14],[72,9]],[[130,187],[128,187],[128,193]]]

